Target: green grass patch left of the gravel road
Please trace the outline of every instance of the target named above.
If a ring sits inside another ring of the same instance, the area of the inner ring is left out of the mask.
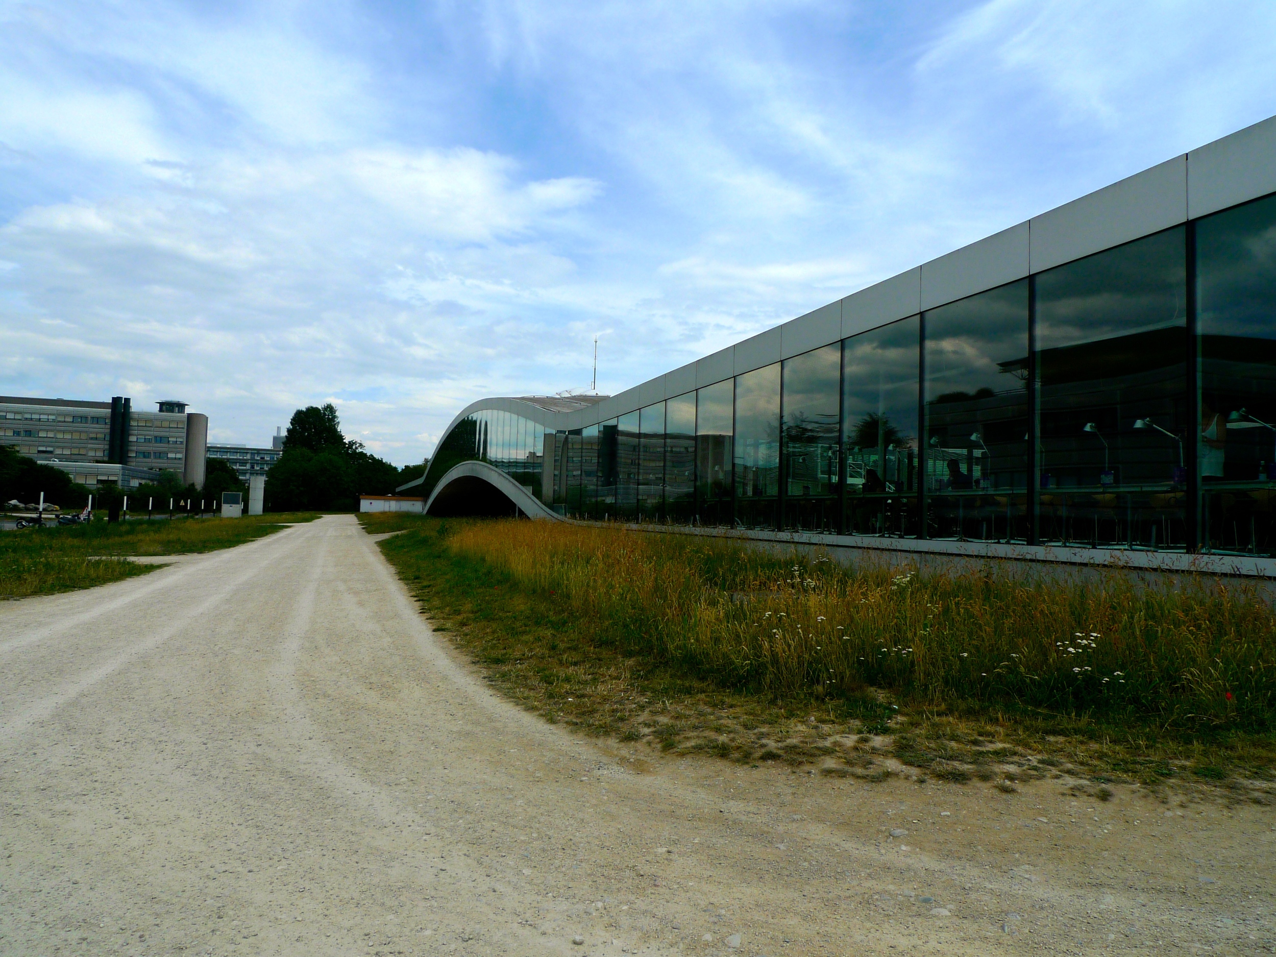
[[[92,588],[147,574],[158,565],[129,561],[131,555],[179,555],[216,551],[260,538],[286,522],[309,522],[316,514],[244,518],[175,518],[154,522],[23,528],[0,532],[0,597]]]

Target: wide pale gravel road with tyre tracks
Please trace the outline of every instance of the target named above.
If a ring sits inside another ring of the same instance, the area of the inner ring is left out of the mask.
[[[5,954],[1249,954],[1273,824],[578,740],[348,516],[0,605]]]

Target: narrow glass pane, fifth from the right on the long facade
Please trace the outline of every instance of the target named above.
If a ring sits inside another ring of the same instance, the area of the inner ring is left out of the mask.
[[[786,528],[837,531],[841,375],[840,342],[785,361]]]

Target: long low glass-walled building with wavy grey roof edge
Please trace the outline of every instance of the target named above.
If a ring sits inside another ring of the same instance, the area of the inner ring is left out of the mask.
[[[540,402],[458,417],[425,494],[481,461],[584,519],[1276,556],[1276,120],[621,396]]]

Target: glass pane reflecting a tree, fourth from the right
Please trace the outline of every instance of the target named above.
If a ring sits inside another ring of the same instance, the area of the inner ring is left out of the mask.
[[[920,316],[842,341],[849,535],[915,536]]]

